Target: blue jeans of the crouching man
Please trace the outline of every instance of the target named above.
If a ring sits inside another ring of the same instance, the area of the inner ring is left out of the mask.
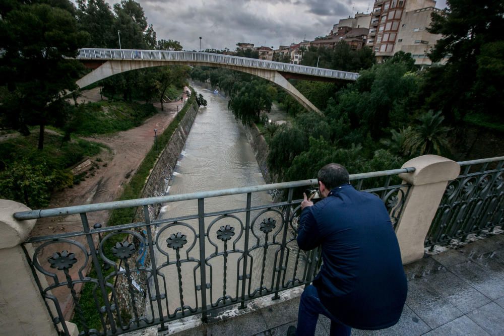
[[[315,334],[315,327],[319,314],[326,315],[331,320],[330,336],[350,336],[352,328],[339,322],[334,316],[322,305],[319,299],[317,288],[309,285],[304,289],[299,303],[299,312],[297,314],[297,330],[298,336],[310,336]]]

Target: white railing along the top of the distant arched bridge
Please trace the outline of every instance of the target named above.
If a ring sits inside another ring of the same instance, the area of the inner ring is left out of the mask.
[[[79,50],[78,59],[103,59],[103,60],[156,60],[184,62],[197,65],[198,63],[226,64],[255,69],[275,70],[279,72],[302,74],[317,77],[326,77],[355,81],[357,73],[346,71],[314,68],[299,64],[282,63],[271,60],[238,57],[232,55],[214,54],[195,51],[169,51],[169,50],[136,50],[136,49],[96,49],[83,48]]]

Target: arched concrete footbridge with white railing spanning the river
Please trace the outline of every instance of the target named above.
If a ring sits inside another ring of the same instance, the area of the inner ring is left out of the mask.
[[[76,58],[83,61],[88,68],[94,69],[93,72],[77,81],[77,85],[81,88],[112,75],[152,66],[172,64],[216,66],[241,71],[273,82],[305,108],[319,113],[319,109],[311,104],[287,79],[334,82],[355,81],[359,76],[357,73],[346,71],[208,52],[83,48],[79,50],[79,55]]]

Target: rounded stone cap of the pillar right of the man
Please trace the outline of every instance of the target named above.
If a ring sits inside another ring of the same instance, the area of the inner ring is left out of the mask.
[[[403,164],[402,168],[415,167],[412,173],[399,174],[404,181],[412,185],[423,185],[450,181],[460,173],[457,162],[438,155],[422,155]]]

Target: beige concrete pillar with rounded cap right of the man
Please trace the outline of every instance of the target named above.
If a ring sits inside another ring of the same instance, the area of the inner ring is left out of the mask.
[[[404,204],[396,234],[403,264],[424,255],[424,241],[448,181],[459,176],[457,162],[437,155],[423,155],[409,160],[403,168],[415,167],[413,173],[399,174],[411,189]]]

